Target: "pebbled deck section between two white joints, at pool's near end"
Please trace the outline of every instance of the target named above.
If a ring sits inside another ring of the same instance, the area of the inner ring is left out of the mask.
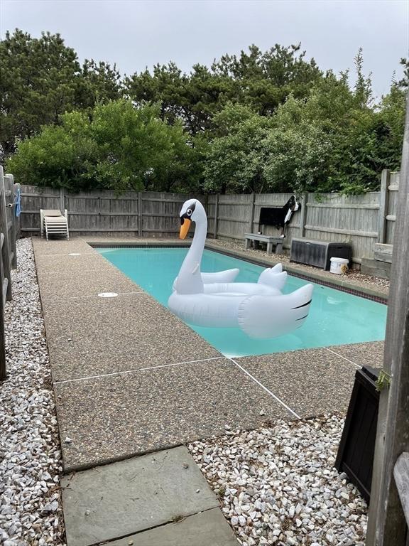
[[[346,412],[356,368],[326,349],[234,359],[300,417]]]

